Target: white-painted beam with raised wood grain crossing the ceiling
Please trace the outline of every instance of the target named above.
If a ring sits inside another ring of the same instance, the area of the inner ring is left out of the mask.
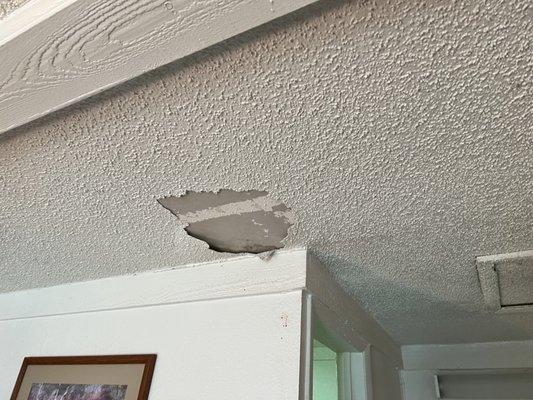
[[[78,0],[12,27],[20,34],[0,46],[0,134],[314,1]]]

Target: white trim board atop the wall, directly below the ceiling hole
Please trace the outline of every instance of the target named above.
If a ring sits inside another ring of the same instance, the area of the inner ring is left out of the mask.
[[[155,306],[304,288],[305,250],[241,257],[0,295],[0,321]]]

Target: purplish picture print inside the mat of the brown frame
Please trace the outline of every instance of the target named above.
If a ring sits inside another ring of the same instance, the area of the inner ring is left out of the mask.
[[[28,400],[124,400],[127,385],[34,383]]]

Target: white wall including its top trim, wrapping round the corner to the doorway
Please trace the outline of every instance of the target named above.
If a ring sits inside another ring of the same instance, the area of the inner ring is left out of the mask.
[[[0,400],[26,356],[131,353],[158,354],[151,400],[304,400],[313,313],[350,349],[370,346],[376,400],[401,398],[400,348],[292,250],[0,295]]]

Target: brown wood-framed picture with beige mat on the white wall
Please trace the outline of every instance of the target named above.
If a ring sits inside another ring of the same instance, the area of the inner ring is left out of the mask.
[[[156,355],[26,357],[11,400],[147,400]]]

